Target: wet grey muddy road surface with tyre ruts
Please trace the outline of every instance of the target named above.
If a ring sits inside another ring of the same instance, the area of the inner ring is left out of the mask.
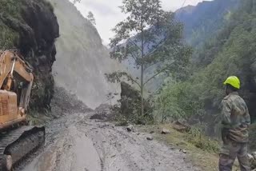
[[[128,133],[125,128],[90,120],[92,113],[73,114],[46,125],[46,145],[22,171],[189,171],[198,170],[186,154],[147,133]]]

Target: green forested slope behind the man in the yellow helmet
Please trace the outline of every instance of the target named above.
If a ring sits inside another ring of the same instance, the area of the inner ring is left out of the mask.
[[[255,118],[256,99],[256,1],[242,1],[239,9],[230,16],[226,26],[203,50],[210,53],[212,62],[195,72],[186,82],[166,85],[158,97],[158,113],[169,117],[197,118],[215,125],[213,119],[219,113],[224,97],[223,81],[237,75],[242,81],[241,94]],[[196,67],[200,67],[197,64]],[[166,99],[166,100],[162,100]],[[192,117],[191,117],[192,116]],[[206,119],[207,118],[207,119]],[[208,121],[207,121],[208,120]],[[212,127],[212,126],[210,126]]]

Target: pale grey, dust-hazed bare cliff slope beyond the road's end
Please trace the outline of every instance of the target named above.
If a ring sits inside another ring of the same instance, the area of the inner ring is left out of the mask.
[[[90,108],[106,103],[106,94],[118,85],[106,82],[105,73],[118,69],[95,27],[68,0],[51,0],[58,16],[58,38],[54,78],[57,85],[78,95]]]

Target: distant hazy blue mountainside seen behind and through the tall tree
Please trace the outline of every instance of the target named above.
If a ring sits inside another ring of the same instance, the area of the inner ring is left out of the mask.
[[[191,58],[192,64],[209,63],[210,58],[204,59],[206,52],[202,51],[205,42],[209,42],[218,32],[222,26],[229,20],[230,15],[238,8],[239,0],[214,0],[203,1],[197,6],[185,6],[175,11],[175,17],[178,22],[182,22],[184,27],[184,40],[186,44],[194,48],[194,54]],[[210,43],[210,42],[209,42]],[[207,47],[206,47],[207,48]],[[215,51],[209,51],[208,54]],[[139,78],[140,69],[133,67],[134,60],[129,58],[124,62],[126,69],[134,78]],[[146,78],[154,74],[156,66],[151,66],[146,70]],[[192,66],[192,68],[196,68]],[[166,76],[159,75],[146,85],[146,89],[150,92],[155,92],[161,88]],[[172,80],[172,79],[168,79]]]

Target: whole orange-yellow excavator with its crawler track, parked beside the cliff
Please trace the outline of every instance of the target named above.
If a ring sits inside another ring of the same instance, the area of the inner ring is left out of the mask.
[[[14,165],[45,141],[43,126],[30,126],[26,110],[34,76],[16,50],[0,50],[0,171]]]

